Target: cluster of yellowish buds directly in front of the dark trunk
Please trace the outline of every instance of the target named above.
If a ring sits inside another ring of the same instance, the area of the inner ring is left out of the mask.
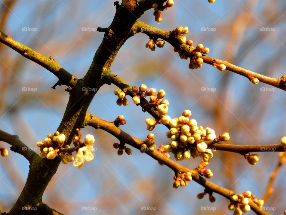
[[[55,159],[55,157],[60,157],[58,151],[60,148],[69,148],[69,146],[64,146],[63,144],[66,140],[66,136],[58,131],[52,135],[48,134],[48,138],[44,139],[44,141],[38,141],[37,146],[40,147],[40,157],[47,159]]]

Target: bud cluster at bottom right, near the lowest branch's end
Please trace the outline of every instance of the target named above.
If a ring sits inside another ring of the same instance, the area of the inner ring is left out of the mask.
[[[234,210],[233,215],[241,215],[242,213],[247,213],[248,211],[250,211],[251,208],[248,205],[249,197],[254,197],[251,195],[250,191],[245,191],[243,194],[231,196],[231,202],[228,208],[229,210]]]

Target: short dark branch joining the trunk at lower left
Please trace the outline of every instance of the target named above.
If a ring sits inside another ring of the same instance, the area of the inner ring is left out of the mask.
[[[23,155],[30,163],[35,158],[33,158],[33,156],[39,157],[39,155],[25,145],[17,135],[11,135],[0,130],[0,141],[7,142],[12,145],[10,147],[11,150]]]

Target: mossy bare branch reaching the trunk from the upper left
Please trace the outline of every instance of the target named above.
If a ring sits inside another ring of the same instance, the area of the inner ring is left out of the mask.
[[[50,72],[52,72],[58,79],[60,79],[61,83],[74,87],[77,83],[77,77],[72,76],[68,71],[63,69],[57,62],[53,59],[46,58],[45,56],[37,53],[31,48],[17,42],[13,38],[7,36],[5,33],[0,31],[0,42],[9,46],[16,52],[23,55],[25,58],[41,65],[46,68]]]

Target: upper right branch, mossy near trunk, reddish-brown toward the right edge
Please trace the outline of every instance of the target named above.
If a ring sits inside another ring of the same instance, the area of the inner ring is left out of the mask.
[[[181,44],[178,42],[177,39],[175,39],[175,34],[173,31],[160,30],[158,28],[147,25],[144,22],[137,21],[137,32],[142,32],[144,34],[147,34],[150,38],[161,38],[167,41],[168,43],[170,43],[177,50],[182,50],[184,52],[187,52],[190,49],[188,45]],[[214,62],[218,64],[225,64],[226,70],[242,75],[248,79],[257,78],[259,79],[259,81],[265,84],[280,88],[282,90],[286,90],[285,77],[281,77],[280,79],[271,78],[271,77],[261,75],[259,73],[252,72],[250,70],[243,69],[229,62],[222,61],[222,60],[210,57],[210,56],[203,55],[201,58],[203,59],[204,63],[210,64],[210,65],[213,65]]]

